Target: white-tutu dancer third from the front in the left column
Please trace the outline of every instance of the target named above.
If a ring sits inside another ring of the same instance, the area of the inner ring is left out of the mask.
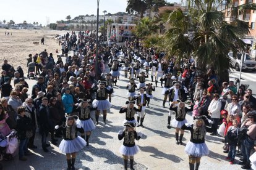
[[[103,121],[106,124],[107,110],[111,107],[111,103],[108,101],[108,94],[113,92],[112,90],[106,89],[106,81],[98,81],[99,89],[96,91],[96,99],[93,100],[93,107],[97,107],[95,114],[96,124],[99,124],[100,111],[103,111]]]

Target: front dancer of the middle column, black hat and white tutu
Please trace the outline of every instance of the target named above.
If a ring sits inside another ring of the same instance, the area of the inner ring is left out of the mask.
[[[134,155],[139,152],[139,147],[135,145],[135,139],[139,140],[142,137],[141,132],[136,132],[134,123],[125,123],[124,131],[118,132],[118,139],[124,139],[119,152],[124,158],[124,169],[127,170],[128,158],[130,158],[130,169],[134,170]]]

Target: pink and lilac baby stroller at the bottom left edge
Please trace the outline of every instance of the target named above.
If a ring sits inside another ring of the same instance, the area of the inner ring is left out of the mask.
[[[17,132],[13,129],[9,135],[0,139],[0,161],[13,159],[13,156],[19,147],[19,141],[16,134]]]

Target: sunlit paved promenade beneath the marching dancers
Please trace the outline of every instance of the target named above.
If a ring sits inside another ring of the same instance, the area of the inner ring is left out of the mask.
[[[75,163],[77,169],[124,169],[122,156],[119,153],[119,147],[123,141],[117,139],[117,133],[124,129],[122,121],[125,115],[124,113],[120,114],[119,109],[125,105],[127,100],[126,86],[128,79],[123,78],[124,73],[121,74],[122,76],[117,81],[117,86],[114,86],[114,94],[111,101],[113,106],[108,110],[107,116],[108,124],[103,124],[103,116],[101,115],[100,124],[90,137],[90,146],[83,148],[77,154]],[[26,81],[30,87],[35,84],[35,80]],[[147,81],[147,83],[150,83],[150,81]],[[134,156],[136,163],[134,168],[189,169],[189,158],[184,152],[184,148],[190,139],[190,132],[185,132],[183,145],[175,144],[175,129],[167,129],[166,127],[169,111],[168,108],[162,107],[163,95],[161,95],[161,91],[161,87],[156,87],[156,91],[153,93],[155,97],[150,101],[150,107],[145,110],[145,113],[147,113],[143,123],[145,127],[136,128],[137,132],[143,133],[143,137],[136,141],[140,152]],[[31,93],[31,88],[29,92]],[[95,116],[94,113],[92,115]],[[191,113],[188,113],[186,118],[189,120],[189,123],[192,123]],[[61,139],[59,138],[58,140],[59,144]],[[241,166],[237,164],[239,158],[236,157],[236,164],[233,165],[230,165],[225,160],[226,153],[223,153],[223,143],[220,141],[220,137],[212,137],[207,133],[206,144],[210,150],[210,155],[202,158],[199,169],[240,169]],[[14,161],[2,161],[4,169],[57,170],[67,168],[66,156],[59,151],[58,145],[51,145],[48,153],[43,152],[41,137],[38,134],[35,137],[35,145],[38,146],[37,149],[32,151],[35,155],[28,156],[28,160],[25,162],[19,161],[18,156],[15,156]]]

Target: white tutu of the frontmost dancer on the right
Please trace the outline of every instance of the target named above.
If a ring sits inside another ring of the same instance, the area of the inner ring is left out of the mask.
[[[193,142],[187,142],[185,147],[185,152],[188,155],[195,156],[195,157],[202,157],[209,155],[209,150],[205,142],[202,144],[194,144]]]

